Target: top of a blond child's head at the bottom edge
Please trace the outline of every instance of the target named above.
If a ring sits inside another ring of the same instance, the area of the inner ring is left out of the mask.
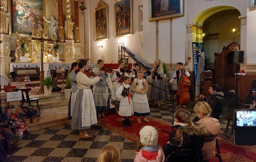
[[[105,145],[100,151],[97,162],[121,162],[121,151],[115,145]]]

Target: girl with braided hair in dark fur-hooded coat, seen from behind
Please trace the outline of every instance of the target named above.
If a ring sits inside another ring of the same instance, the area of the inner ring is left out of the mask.
[[[203,147],[204,135],[207,130],[203,125],[194,125],[190,120],[189,112],[185,109],[179,109],[175,113],[174,125],[175,128],[170,136],[170,141],[163,144],[163,152],[165,157],[172,151],[177,149],[201,149]],[[193,157],[191,157],[193,158]],[[180,161],[191,161],[187,159],[179,159]]]

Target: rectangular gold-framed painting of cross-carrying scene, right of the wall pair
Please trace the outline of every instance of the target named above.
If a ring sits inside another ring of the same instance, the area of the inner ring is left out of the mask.
[[[115,9],[115,37],[132,34],[132,0],[117,0]]]

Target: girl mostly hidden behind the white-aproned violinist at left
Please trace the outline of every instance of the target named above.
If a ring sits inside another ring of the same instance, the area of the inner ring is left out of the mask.
[[[76,92],[78,90],[77,88],[77,83],[76,83],[76,74],[75,70],[78,68],[78,63],[73,62],[71,64],[71,69],[69,73],[69,80],[72,84],[71,90],[70,90],[70,97],[69,97],[69,108],[68,108],[68,119],[72,119],[72,114],[73,114],[73,109],[74,109],[74,104],[75,104],[75,96]]]

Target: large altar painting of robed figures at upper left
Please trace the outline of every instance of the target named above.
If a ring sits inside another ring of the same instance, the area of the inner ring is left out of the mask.
[[[33,29],[46,27],[43,15],[46,15],[45,0],[8,0],[9,35],[30,35]],[[22,5],[20,5],[22,3]]]

